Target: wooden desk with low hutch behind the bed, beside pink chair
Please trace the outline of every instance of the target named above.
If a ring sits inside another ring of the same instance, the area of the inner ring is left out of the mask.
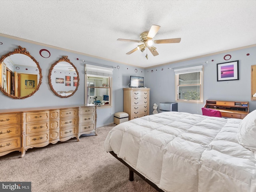
[[[218,110],[222,117],[243,119],[249,113],[249,102],[206,100],[204,108]]]

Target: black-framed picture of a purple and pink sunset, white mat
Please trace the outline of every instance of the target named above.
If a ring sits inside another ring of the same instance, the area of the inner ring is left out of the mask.
[[[238,60],[217,64],[217,81],[239,80]]]

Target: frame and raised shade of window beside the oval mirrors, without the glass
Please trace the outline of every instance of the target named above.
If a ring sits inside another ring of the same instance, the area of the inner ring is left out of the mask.
[[[90,101],[88,99],[88,86],[87,86],[87,77],[88,76],[95,76],[99,78],[106,78],[109,77],[109,88],[108,87],[94,87],[94,88],[108,88],[109,89],[109,104],[108,105],[97,105],[101,108],[103,107],[111,107],[112,106],[112,74],[113,74],[113,68],[103,67],[103,66],[97,66],[92,64],[85,64],[85,104],[89,104]]]

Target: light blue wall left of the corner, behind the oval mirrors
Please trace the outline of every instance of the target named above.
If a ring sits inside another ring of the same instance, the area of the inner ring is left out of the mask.
[[[90,64],[97,64],[102,66],[114,67],[112,78],[112,104],[111,108],[97,107],[97,127],[104,126],[114,122],[114,113],[123,111],[123,90],[130,81],[130,75],[144,76],[144,69],[135,66],[129,66],[125,64],[118,64],[108,60],[102,60],[86,56],[83,54],[76,54],[74,52],[68,52],[60,49],[50,48],[47,46],[41,46],[13,38],[6,38],[0,36],[0,56],[7,54],[10,51],[22,46],[26,48],[28,52],[38,61],[42,69],[42,84],[39,90],[32,96],[25,99],[13,99],[0,92],[0,110],[11,108],[28,108],[28,107],[40,107],[40,106],[60,106],[60,105],[72,105],[72,104],[84,104],[84,62],[90,62]],[[39,52],[41,49],[47,49],[50,52],[49,58],[43,58]],[[69,60],[76,66],[80,83],[76,93],[69,98],[60,98],[52,92],[48,82],[48,74],[50,67],[54,62],[59,60],[62,56],[68,56]],[[78,60],[77,60],[78,58]],[[119,69],[116,68],[119,66]],[[134,70],[138,69],[136,73]]]

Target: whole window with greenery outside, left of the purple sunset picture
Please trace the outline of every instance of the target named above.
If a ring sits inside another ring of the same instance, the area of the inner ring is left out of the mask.
[[[175,69],[176,101],[203,102],[203,66]]]

